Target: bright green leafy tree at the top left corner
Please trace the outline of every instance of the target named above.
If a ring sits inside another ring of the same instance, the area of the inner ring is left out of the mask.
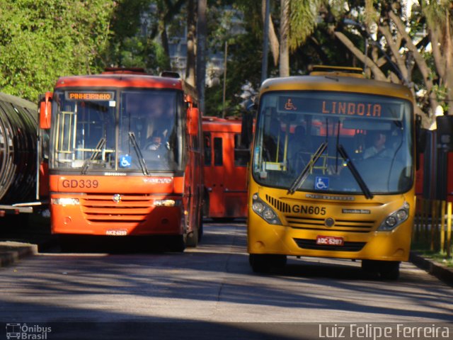
[[[98,72],[115,5],[0,0],[0,90],[37,101],[62,75]]]

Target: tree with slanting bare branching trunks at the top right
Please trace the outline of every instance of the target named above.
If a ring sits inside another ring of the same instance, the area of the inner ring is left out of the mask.
[[[448,56],[452,55],[449,47],[452,42],[449,36],[452,18],[448,14],[452,11],[452,5],[449,1],[440,1],[439,4],[437,2],[430,1],[428,5],[426,1],[420,1],[422,6],[412,8],[415,9],[412,16],[406,17],[403,13],[403,1],[367,0],[365,16],[357,16],[354,21],[350,21],[354,23],[352,28],[338,25],[335,33],[336,37],[371,69],[374,78],[406,84],[413,94],[418,94],[415,111],[423,118],[425,126],[430,125],[439,101],[447,101],[447,93],[442,89],[449,83],[449,72],[442,68],[442,65],[445,67],[448,60],[451,60]],[[363,11],[355,8],[355,13]],[[343,14],[351,18],[352,11]],[[430,35],[420,38],[418,33],[423,28],[428,28]],[[350,40],[349,37],[357,33],[372,45],[371,53],[365,54]],[[445,42],[442,47],[437,43],[441,37]],[[428,49],[430,45],[432,52]],[[451,68],[450,66],[449,69]]]

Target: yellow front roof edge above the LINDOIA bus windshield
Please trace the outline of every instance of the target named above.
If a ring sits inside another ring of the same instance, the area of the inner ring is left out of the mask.
[[[342,91],[360,94],[394,96],[413,100],[411,91],[403,85],[386,81],[343,77],[336,74],[319,76],[295,76],[266,79],[260,94],[268,91]]]

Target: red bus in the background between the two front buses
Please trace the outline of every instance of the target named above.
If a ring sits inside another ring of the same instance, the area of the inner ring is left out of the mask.
[[[248,149],[241,145],[241,120],[203,117],[205,216],[247,216]]]

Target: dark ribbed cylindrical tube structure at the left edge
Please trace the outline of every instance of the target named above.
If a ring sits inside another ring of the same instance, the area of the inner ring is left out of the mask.
[[[38,106],[0,93],[0,203],[34,200]]]

